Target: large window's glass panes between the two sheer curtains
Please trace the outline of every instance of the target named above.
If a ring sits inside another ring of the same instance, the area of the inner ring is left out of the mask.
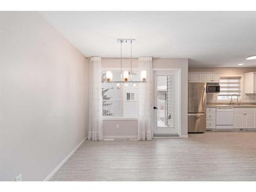
[[[111,70],[113,81],[120,81],[120,71]],[[105,82],[105,72],[102,71],[102,116],[137,117],[138,83]],[[132,73],[133,81],[138,81],[138,73]]]

